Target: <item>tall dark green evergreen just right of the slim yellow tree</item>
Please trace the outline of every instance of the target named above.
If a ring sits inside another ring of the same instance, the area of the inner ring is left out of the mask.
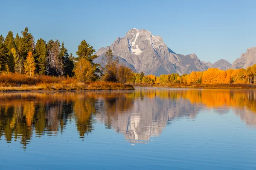
[[[36,61],[36,72],[38,74],[46,74],[47,66],[47,49],[46,42],[40,38],[36,42],[35,46],[35,61]]]

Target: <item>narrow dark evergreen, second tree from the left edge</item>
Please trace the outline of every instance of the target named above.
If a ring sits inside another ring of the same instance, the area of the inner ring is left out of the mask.
[[[13,57],[13,54],[12,54],[12,48],[15,47],[15,42],[14,42],[14,37],[13,37],[13,33],[12,31],[9,31],[7,36],[6,36],[6,39],[5,39],[5,45],[6,45],[6,48],[8,50],[8,69],[9,69],[9,72],[14,72],[15,69],[15,63],[14,63],[14,57]]]

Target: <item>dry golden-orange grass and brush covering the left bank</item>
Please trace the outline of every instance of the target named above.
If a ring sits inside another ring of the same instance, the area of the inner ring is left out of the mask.
[[[131,90],[132,85],[115,82],[78,82],[77,79],[51,76],[29,77],[24,74],[1,74],[0,91],[35,90]]]

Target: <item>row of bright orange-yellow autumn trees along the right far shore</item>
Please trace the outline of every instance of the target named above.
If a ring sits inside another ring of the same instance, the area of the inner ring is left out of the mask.
[[[247,69],[228,69],[226,71],[218,68],[209,68],[207,71],[192,71],[191,74],[179,75],[162,74],[159,77],[154,75],[144,75],[142,72],[134,73],[128,83],[148,83],[148,84],[256,84],[256,64]]]

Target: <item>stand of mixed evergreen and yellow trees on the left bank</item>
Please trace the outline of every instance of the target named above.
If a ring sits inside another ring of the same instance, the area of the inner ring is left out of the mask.
[[[0,73],[19,73],[29,76],[49,75],[75,77],[79,81],[102,79],[111,82],[127,82],[131,69],[120,65],[109,49],[102,64],[94,63],[95,49],[85,40],[78,46],[74,57],[68,53],[64,42],[42,38],[36,42],[26,27],[21,35],[9,31],[6,37],[0,35]]]

